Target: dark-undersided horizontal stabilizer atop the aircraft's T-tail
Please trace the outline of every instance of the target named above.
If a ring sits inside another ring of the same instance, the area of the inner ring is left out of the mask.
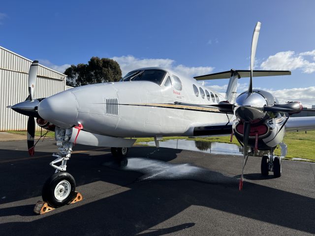
[[[196,80],[218,80],[218,79],[229,79],[232,73],[238,73],[239,78],[251,77],[250,70],[228,70],[219,73],[209,74],[209,75],[201,75],[193,77]],[[253,70],[253,77],[261,77],[261,76],[277,76],[277,75],[291,75],[291,71],[289,70]]]

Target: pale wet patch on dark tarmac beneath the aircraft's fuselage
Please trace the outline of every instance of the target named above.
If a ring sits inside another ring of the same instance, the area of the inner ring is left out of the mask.
[[[136,171],[143,176],[138,180],[197,180],[207,183],[235,184],[237,179],[233,176],[223,175],[191,164],[177,164],[143,157],[128,157],[120,163],[109,161],[102,164],[121,171]]]

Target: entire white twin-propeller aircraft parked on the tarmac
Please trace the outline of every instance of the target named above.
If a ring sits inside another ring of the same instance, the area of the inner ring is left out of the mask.
[[[56,173],[44,184],[42,198],[52,207],[73,199],[74,178],[65,172],[75,143],[111,147],[124,157],[137,137],[234,135],[244,146],[243,170],[253,150],[268,150],[262,157],[261,174],[281,176],[281,158],[274,156],[286,130],[315,129],[315,118],[290,118],[301,112],[300,102],[279,104],[269,92],[252,89],[252,76],[290,75],[290,71],[252,70],[260,23],[252,37],[251,70],[230,70],[188,79],[169,69],[136,69],[120,81],[69,89],[47,98],[34,98],[38,61],[29,73],[29,97],[11,108],[29,116],[28,147],[34,153],[35,121],[55,131],[59,153],[50,165]],[[236,99],[237,81],[250,77],[248,91]],[[197,83],[230,78],[226,96]],[[310,111],[310,110],[308,110]],[[282,155],[286,153],[282,145]],[[249,149],[251,150],[249,152]],[[58,165],[57,163],[61,163]]]

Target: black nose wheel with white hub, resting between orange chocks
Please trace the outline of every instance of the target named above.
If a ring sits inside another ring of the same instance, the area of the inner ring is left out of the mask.
[[[75,197],[75,180],[67,172],[55,173],[49,177],[42,190],[42,198],[50,206],[57,208],[71,202]]]

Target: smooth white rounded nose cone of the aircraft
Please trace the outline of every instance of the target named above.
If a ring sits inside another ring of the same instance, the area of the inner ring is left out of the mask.
[[[38,114],[59,127],[69,128],[78,117],[77,99],[71,91],[57,93],[39,103]]]

